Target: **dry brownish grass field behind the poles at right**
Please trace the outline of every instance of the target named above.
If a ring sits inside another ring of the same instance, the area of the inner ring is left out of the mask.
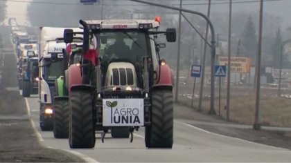
[[[181,98],[180,102],[191,105],[191,99]],[[233,96],[230,99],[230,120],[240,124],[254,123],[256,96],[254,94]],[[198,100],[193,102],[193,108],[197,109]],[[206,113],[210,108],[209,99],[202,102],[203,112]],[[222,119],[226,119],[227,111],[226,99],[222,97],[220,113]],[[219,100],[215,99],[215,111],[219,113]],[[291,127],[291,100],[285,97],[262,96],[261,97],[261,123],[263,126]]]

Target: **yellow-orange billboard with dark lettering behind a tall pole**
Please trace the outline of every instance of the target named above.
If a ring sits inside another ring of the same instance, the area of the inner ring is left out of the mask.
[[[219,65],[227,66],[228,57],[219,57]],[[251,70],[251,59],[248,57],[231,57],[231,72],[249,73]]]

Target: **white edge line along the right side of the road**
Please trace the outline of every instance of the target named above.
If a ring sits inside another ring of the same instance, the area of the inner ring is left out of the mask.
[[[243,140],[243,139],[240,139],[240,138],[238,138],[238,137],[229,137],[229,136],[226,136],[226,135],[220,135],[220,134],[218,134],[218,133],[213,133],[213,132],[210,132],[210,131],[206,131],[206,130],[204,130],[204,129],[202,129],[202,128],[198,128],[198,127],[196,127],[196,126],[193,126],[193,125],[191,125],[191,124],[186,124],[186,123],[184,123],[184,122],[179,122],[179,121],[177,121],[177,120],[175,120],[175,122],[177,122],[177,123],[179,123],[179,124],[183,124],[184,126],[188,126],[188,127],[191,127],[191,128],[195,128],[195,129],[198,130],[198,131],[202,131],[202,132],[204,132],[204,133],[209,133],[209,134],[211,134],[211,135],[215,135],[215,136],[219,136],[219,137],[224,137],[224,138],[228,138],[228,139],[232,139],[232,140],[238,140],[238,141],[241,141],[241,142],[247,142],[247,143],[251,143],[251,144],[257,144],[257,145],[261,145],[261,146],[266,146],[266,147],[268,147],[268,148],[276,148],[276,149],[280,148],[280,147],[276,147],[276,146],[269,146],[269,145],[266,145],[266,144],[260,144],[260,143],[251,142],[251,141],[248,141],[248,140]],[[286,150],[285,148],[281,148],[281,149]]]

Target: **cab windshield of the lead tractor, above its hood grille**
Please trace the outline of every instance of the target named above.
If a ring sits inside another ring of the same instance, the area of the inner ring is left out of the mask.
[[[147,37],[138,30],[104,30],[96,34],[99,55],[104,60],[125,59],[133,63],[149,56]]]

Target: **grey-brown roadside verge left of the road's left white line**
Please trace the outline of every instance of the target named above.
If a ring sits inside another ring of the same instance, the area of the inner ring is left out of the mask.
[[[38,143],[26,103],[17,86],[17,59],[8,29],[0,48],[0,162],[82,162],[66,151],[46,148]]]

